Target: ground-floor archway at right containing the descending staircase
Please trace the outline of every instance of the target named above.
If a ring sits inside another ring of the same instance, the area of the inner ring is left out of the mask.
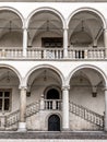
[[[84,111],[91,121],[88,125],[88,118],[78,113],[70,114],[70,119],[73,123],[70,123],[71,129],[75,130],[103,130],[104,127],[104,111],[105,111],[105,92],[104,87],[106,80],[103,72],[98,71],[94,67],[80,68],[72,73],[70,79],[70,104],[76,107],[75,111]],[[72,109],[72,107],[70,107]],[[74,108],[75,109],[75,108]],[[96,116],[99,116],[96,118]],[[100,119],[102,118],[102,119]],[[78,121],[75,121],[78,119]],[[96,125],[96,119],[99,121],[99,126]],[[93,123],[93,125],[92,125]],[[87,127],[88,126],[88,127]],[[97,127],[96,127],[97,126]]]

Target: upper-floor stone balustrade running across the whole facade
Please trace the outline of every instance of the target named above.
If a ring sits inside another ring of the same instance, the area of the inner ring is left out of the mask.
[[[93,60],[93,59],[106,59],[106,48],[68,48],[68,57],[64,57],[63,48],[40,48],[33,47],[26,49],[26,56],[23,54],[22,47],[0,47],[0,59],[45,59],[45,60]]]

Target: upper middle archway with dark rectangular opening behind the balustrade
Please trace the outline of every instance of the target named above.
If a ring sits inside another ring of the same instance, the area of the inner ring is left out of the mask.
[[[50,8],[35,10],[29,15],[27,24],[29,47],[62,47],[63,21],[56,10]]]

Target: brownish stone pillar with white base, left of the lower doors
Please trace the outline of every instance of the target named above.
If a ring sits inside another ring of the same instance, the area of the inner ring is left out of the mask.
[[[19,131],[26,131],[26,87],[21,88],[20,94],[20,122],[19,122]]]

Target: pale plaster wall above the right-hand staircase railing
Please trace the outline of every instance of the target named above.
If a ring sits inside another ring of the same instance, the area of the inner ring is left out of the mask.
[[[96,80],[93,75],[92,78]],[[105,111],[105,92],[98,87],[96,97],[93,97],[92,85],[84,79],[71,79],[70,100],[84,106],[97,114],[104,115]]]

